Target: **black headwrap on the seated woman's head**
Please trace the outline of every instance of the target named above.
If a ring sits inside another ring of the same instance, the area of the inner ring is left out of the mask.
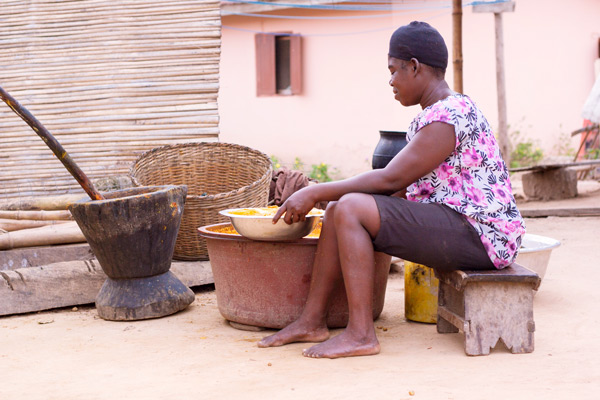
[[[409,61],[416,58],[431,67],[448,67],[448,48],[440,33],[427,22],[413,21],[396,29],[390,39],[390,57]]]

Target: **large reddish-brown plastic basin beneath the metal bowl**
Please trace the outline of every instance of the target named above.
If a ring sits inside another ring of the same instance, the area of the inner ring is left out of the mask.
[[[222,233],[230,223],[199,228],[206,239],[221,315],[236,325],[281,329],[302,312],[310,286],[318,238],[257,241]],[[221,232],[219,232],[221,231]],[[391,257],[375,253],[373,319],[383,310]],[[327,315],[330,328],[348,323],[344,285],[334,290]]]

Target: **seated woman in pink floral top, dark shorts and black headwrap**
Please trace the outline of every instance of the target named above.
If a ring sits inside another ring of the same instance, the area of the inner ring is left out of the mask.
[[[408,145],[383,169],[294,193],[285,213],[303,220],[319,201],[330,201],[301,316],[259,342],[259,347],[323,342],[307,357],[345,357],[380,351],[372,319],[374,251],[440,270],[503,268],[513,262],[525,233],[506,165],[489,123],[465,95],[444,80],[448,50],[424,22],[398,28],[390,39],[388,68],[394,97],[423,111],[408,130]],[[350,317],[329,338],[328,300],[343,279]]]

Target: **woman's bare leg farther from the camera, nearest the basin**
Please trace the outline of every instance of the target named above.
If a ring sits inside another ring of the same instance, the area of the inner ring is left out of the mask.
[[[282,346],[292,342],[322,342],[329,337],[327,309],[331,292],[342,279],[334,227],[336,202],[327,205],[317,245],[308,299],[300,317],[284,329],[258,342],[258,347]]]

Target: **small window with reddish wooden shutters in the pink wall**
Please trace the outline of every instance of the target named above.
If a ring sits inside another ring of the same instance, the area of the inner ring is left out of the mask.
[[[301,37],[290,33],[258,33],[255,43],[257,96],[300,94]]]

